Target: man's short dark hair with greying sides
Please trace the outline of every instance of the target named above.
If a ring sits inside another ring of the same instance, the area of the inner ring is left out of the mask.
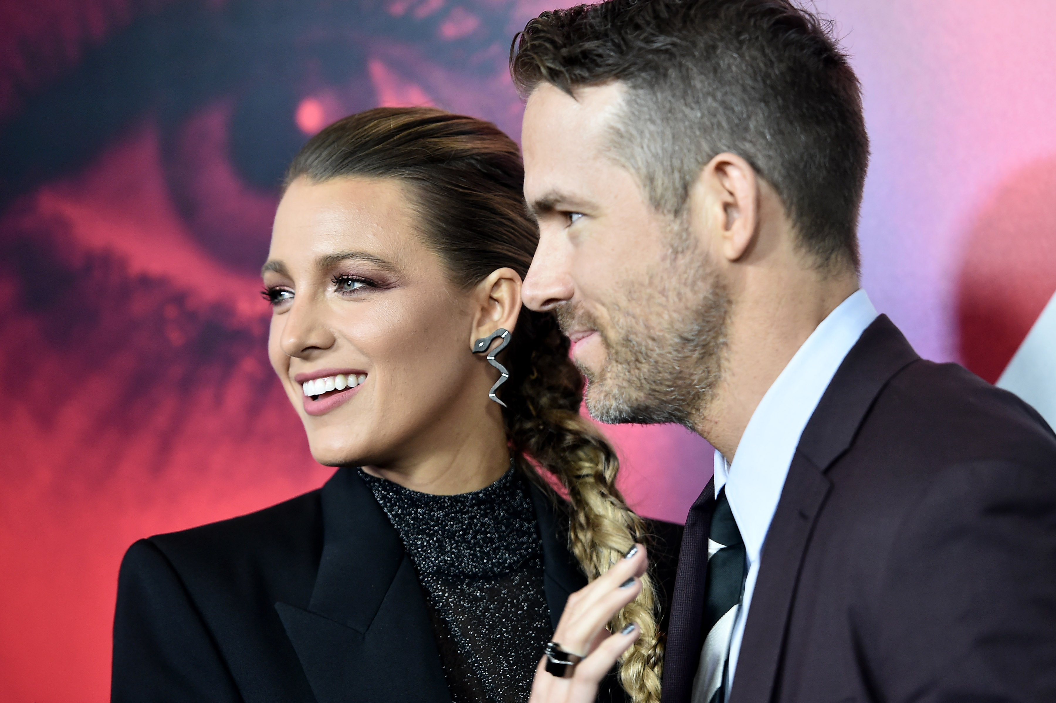
[[[677,216],[700,170],[744,158],[818,268],[859,268],[869,162],[861,87],[831,24],[789,0],[607,0],[545,12],[510,49],[523,97],[620,81],[618,158]]]

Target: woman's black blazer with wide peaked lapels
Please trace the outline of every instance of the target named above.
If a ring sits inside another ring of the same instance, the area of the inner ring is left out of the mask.
[[[566,547],[567,516],[531,491],[557,626],[586,580]],[[682,528],[648,526],[670,593]],[[350,469],[274,508],[135,543],[118,580],[111,697],[450,701],[414,566]],[[612,676],[604,698],[623,699]]]

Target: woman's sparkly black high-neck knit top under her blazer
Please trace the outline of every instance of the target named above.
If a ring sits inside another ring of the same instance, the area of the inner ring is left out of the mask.
[[[524,479],[431,495],[359,475],[399,532],[425,586],[455,703],[523,703],[550,639],[543,545]]]

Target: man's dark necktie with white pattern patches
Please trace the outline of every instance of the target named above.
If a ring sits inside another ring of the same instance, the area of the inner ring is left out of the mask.
[[[704,587],[704,645],[693,680],[693,703],[724,703],[730,635],[744,588],[744,543],[734,520],[725,487],[719,491],[708,536],[708,577]]]

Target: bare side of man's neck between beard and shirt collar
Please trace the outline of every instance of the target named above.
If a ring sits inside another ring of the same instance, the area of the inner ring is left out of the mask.
[[[787,283],[790,285],[781,285]],[[817,325],[859,288],[854,276],[773,282],[735,301],[722,379],[694,430],[733,461],[762,397]]]

